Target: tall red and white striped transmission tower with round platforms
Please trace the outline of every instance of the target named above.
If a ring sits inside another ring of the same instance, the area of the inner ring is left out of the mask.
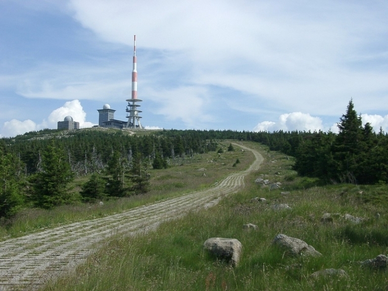
[[[138,116],[138,113],[141,112],[137,110],[137,107],[140,107],[140,105],[137,105],[137,102],[141,102],[140,99],[137,99],[137,68],[136,68],[136,35],[133,37],[133,68],[132,68],[132,94],[131,99],[126,100],[128,102],[126,112],[127,114],[127,127],[129,128],[142,128],[140,124],[140,116]],[[137,126],[135,122],[137,121]]]

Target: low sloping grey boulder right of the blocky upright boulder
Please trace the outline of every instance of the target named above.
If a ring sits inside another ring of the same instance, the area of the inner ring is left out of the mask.
[[[278,234],[272,241],[272,244],[284,249],[292,256],[321,256],[322,254],[316,251],[312,246],[309,246],[305,241],[299,238],[290,237],[285,234]]]

